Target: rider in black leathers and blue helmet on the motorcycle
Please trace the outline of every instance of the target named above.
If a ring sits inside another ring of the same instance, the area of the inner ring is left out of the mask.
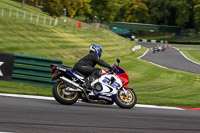
[[[95,68],[98,64],[102,67],[113,69],[113,67],[103,60],[101,60],[102,47],[98,44],[92,44],[90,46],[90,53],[80,59],[75,65],[74,69],[84,76],[89,76],[86,78],[85,83],[82,84],[83,88],[93,89],[91,83],[97,78],[101,77],[101,69]]]

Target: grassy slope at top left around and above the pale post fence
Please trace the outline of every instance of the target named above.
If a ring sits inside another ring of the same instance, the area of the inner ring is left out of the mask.
[[[49,16],[47,13],[42,12],[40,8],[25,5],[24,10],[21,9],[21,3],[11,1],[11,0],[1,0],[0,1],[0,18],[12,18],[14,21],[27,21],[33,24],[45,24],[45,25],[55,25],[56,18]],[[66,17],[66,22],[64,23],[64,17],[58,18],[57,27],[64,27],[69,31],[78,30],[78,21]],[[95,30],[94,26],[82,23],[82,29],[85,30]]]

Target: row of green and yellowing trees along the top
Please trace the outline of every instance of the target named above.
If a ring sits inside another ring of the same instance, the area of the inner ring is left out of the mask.
[[[22,0],[42,5],[51,16],[85,20],[176,25],[200,30],[200,0]]]

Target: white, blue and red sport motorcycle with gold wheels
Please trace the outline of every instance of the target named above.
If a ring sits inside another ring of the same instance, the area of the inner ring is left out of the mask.
[[[121,108],[130,109],[137,102],[136,94],[132,87],[128,86],[129,77],[125,70],[119,67],[117,58],[115,69],[103,70],[101,77],[91,83],[92,90],[85,89],[81,85],[85,77],[72,67],[64,65],[51,65],[52,80],[57,80],[53,85],[53,96],[57,102],[72,105],[79,99],[87,103],[113,104]]]

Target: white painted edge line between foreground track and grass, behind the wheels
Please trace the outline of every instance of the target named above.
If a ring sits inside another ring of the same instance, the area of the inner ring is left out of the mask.
[[[4,93],[0,93],[0,96],[17,97],[17,98],[28,98],[28,99],[39,99],[39,100],[55,100],[53,97],[33,96],[33,95],[20,95],[20,94],[4,94]],[[114,104],[114,105],[116,105],[116,104]],[[153,108],[153,109],[168,109],[168,110],[185,110],[185,109],[177,108],[177,107],[144,105],[144,104],[136,104],[135,107],[138,107],[138,108]]]

